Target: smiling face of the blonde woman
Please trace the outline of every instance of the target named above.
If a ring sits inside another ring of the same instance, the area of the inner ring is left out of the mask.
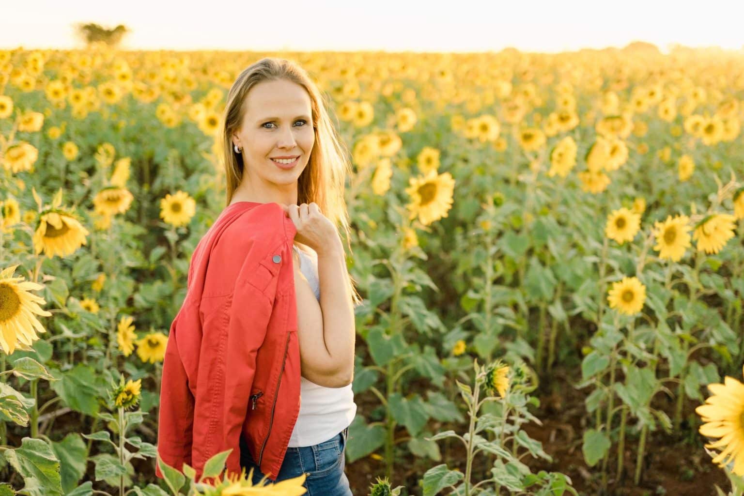
[[[310,95],[290,81],[264,81],[248,91],[243,105],[246,113],[232,138],[243,149],[244,178],[253,188],[296,187],[315,144]],[[297,159],[283,168],[272,160],[280,157]]]

